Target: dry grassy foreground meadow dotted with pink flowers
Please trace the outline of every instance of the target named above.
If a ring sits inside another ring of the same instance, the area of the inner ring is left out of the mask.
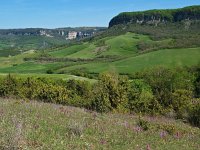
[[[180,121],[101,115],[84,109],[0,99],[0,149],[199,149],[200,132]],[[170,130],[171,129],[171,130]],[[169,130],[171,132],[167,132]]]

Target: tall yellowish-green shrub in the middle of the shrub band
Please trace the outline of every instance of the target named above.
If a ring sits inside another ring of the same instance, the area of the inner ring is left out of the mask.
[[[128,104],[129,82],[126,77],[113,72],[103,73],[95,87],[93,107],[97,111],[117,110]]]

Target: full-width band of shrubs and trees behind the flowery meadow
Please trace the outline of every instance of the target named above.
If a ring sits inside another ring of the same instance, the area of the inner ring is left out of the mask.
[[[0,96],[72,105],[104,112],[165,115],[200,127],[200,66],[158,67],[120,76],[99,75],[96,83],[48,78],[0,78]]]

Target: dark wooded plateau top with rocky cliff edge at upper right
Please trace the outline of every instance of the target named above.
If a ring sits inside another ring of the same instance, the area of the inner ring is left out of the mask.
[[[183,20],[200,20],[200,5],[180,9],[155,9],[138,12],[123,12],[114,17],[109,27],[118,24],[154,24],[180,22]]]

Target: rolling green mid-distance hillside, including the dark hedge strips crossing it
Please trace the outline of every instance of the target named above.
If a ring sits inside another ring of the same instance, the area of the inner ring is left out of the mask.
[[[133,73],[158,65],[166,67],[184,67],[197,65],[200,60],[200,48],[170,48],[172,39],[156,41],[163,46],[150,51],[138,49],[141,42],[154,44],[149,36],[126,33],[115,37],[106,37],[95,42],[57,48],[40,53],[24,53],[13,57],[0,57],[2,73],[100,73],[114,69],[120,73]],[[102,44],[103,43],[103,44]],[[163,45],[162,45],[163,44]]]

